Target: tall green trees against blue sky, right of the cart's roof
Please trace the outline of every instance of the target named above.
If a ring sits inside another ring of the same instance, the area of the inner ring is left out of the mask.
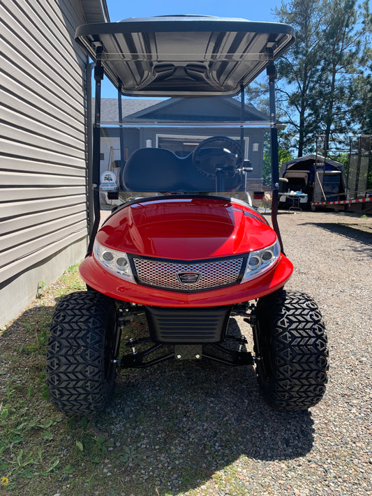
[[[296,32],[295,43],[276,63],[277,116],[286,125],[283,149],[304,156],[315,152],[317,135],[325,135],[327,148],[335,148],[350,133],[371,134],[369,2],[290,0],[275,13]],[[259,82],[246,90],[262,112],[268,112],[266,86]],[[267,183],[267,160],[264,170]]]

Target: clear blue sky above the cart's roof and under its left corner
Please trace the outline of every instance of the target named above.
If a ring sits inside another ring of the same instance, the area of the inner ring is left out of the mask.
[[[271,21],[272,13],[281,5],[280,0],[106,0],[110,21],[117,22],[128,17],[151,17],[152,15],[202,14],[219,17],[243,17],[250,21]],[[105,78],[102,85],[103,98],[117,98],[117,90]]]

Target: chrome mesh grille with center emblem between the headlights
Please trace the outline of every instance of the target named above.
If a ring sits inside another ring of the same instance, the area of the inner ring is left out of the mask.
[[[186,264],[133,257],[140,284],[181,291],[207,290],[237,283],[243,260],[244,258],[240,257]],[[196,273],[200,274],[200,277],[195,283],[182,283],[180,278],[185,277],[179,275],[183,273]]]

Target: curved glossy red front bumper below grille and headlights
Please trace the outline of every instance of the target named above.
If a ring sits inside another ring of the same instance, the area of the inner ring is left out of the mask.
[[[129,283],[105,271],[92,255],[80,264],[80,276],[84,282],[102,294],[130,303],[172,308],[224,306],[257,299],[283,287],[292,271],[292,262],[281,254],[272,269],[246,283],[184,293]]]

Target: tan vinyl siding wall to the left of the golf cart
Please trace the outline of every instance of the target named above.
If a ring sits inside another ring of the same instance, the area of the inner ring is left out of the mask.
[[[0,2],[1,314],[7,286],[24,288],[24,304],[38,285],[27,273],[45,265],[50,283],[66,269],[57,259],[84,256],[87,58],[73,39],[84,22],[78,0]]]

